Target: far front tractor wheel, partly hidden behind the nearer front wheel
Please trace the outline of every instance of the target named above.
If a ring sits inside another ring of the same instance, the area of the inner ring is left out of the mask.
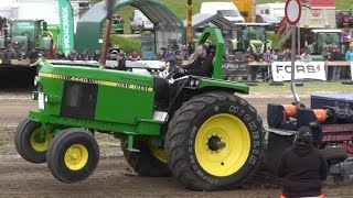
[[[32,120],[23,120],[14,133],[14,145],[18,153],[28,162],[45,163],[46,150],[53,140],[51,133],[41,139],[42,124]]]

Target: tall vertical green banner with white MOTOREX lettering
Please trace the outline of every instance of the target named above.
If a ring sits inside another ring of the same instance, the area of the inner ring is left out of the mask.
[[[73,7],[68,0],[58,0],[61,23],[61,46],[64,53],[74,48],[74,15]]]

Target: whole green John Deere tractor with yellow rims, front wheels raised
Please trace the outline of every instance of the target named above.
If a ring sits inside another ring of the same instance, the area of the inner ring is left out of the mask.
[[[258,169],[264,129],[240,94],[246,85],[222,80],[224,40],[206,29],[199,44],[215,41],[213,78],[185,76],[174,102],[165,78],[114,69],[52,65],[35,78],[31,111],[15,132],[18,153],[47,163],[63,183],[86,179],[96,169],[94,132],[121,140],[127,162],[141,176],[175,176],[193,190],[232,189]]]

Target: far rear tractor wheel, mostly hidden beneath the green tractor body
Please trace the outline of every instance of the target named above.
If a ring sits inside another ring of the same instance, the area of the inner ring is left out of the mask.
[[[164,150],[153,146],[148,141],[136,141],[133,147],[140,152],[130,152],[127,141],[120,142],[121,151],[129,165],[140,176],[170,177],[171,170],[168,167],[168,156]]]

